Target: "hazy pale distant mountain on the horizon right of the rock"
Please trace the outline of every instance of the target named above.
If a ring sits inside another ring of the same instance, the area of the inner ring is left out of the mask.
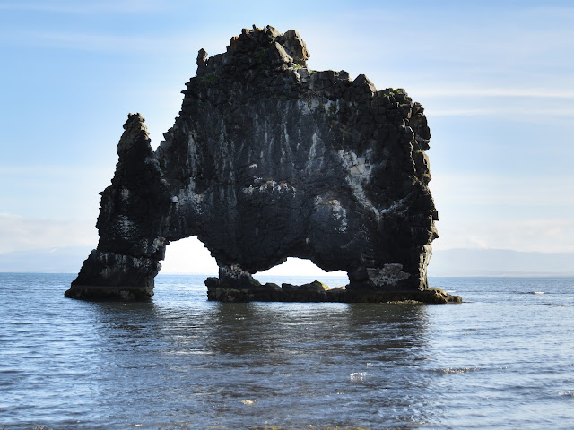
[[[429,276],[574,276],[574,253],[503,249],[434,251]]]

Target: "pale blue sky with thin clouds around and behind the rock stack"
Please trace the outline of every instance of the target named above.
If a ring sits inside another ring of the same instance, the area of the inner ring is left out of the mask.
[[[197,51],[252,24],[299,30],[314,70],[422,103],[435,250],[574,252],[571,1],[0,0],[0,255],[95,247],[127,114],[156,147]],[[162,271],[205,268],[190,239]]]

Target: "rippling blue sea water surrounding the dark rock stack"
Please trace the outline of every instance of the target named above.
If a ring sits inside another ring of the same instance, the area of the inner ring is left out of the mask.
[[[0,428],[574,428],[574,279],[431,279],[461,305],[221,304],[167,275],[91,303],[73,279],[0,273]]]

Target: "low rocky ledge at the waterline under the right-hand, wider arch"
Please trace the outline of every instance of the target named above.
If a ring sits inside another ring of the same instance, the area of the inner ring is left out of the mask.
[[[338,302],[338,303],[462,303],[440,288],[417,291],[373,291],[328,288],[314,281],[304,285],[267,283],[252,288],[230,288],[219,285],[217,278],[208,278],[207,299],[217,302]]]

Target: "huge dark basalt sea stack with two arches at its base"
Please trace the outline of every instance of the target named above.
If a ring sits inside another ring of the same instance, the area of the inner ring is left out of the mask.
[[[199,51],[157,150],[130,114],[100,243],[66,296],[151,297],[165,246],[198,236],[220,267],[209,299],[456,301],[427,282],[438,212],[422,106],[364,75],[309,70],[308,58],[295,30],[243,30],[223,54]],[[350,283],[253,279],[290,256]]]

